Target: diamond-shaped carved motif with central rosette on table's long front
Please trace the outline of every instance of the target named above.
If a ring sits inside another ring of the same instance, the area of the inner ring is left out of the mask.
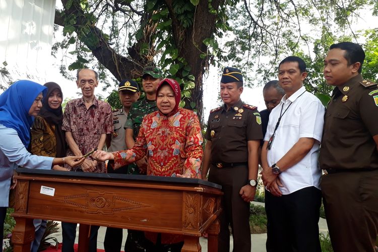
[[[87,214],[114,215],[122,211],[152,207],[152,205],[115,195],[113,192],[88,190],[85,194],[56,199],[68,205],[84,209]]]

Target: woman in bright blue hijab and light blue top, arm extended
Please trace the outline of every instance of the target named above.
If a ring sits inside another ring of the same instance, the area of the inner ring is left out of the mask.
[[[85,160],[73,156],[36,156],[26,150],[30,127],[42,107],[41,100],[46,92],[46,87],[38,83],[17,81],[0,95],[0,251],[3,251],[4,220],[13,171],[18,166],[51,169],[53,165],[65,163],[76,167]]]

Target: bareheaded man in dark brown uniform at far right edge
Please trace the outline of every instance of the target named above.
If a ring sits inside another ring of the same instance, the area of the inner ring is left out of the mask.
[[[330,47],[324,76],[335,86],[325,114],[319,162],[335,252],[373,252],[378,230],[378,86],[360,75],[362,47]]]

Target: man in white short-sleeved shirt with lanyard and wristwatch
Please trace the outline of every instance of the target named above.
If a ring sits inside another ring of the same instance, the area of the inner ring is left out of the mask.
[[[325,108],[303,87],[304,61],[286,57],[278,66],[286,95],[269,116],[262,148],[267,251],[320,252],[318,152]]]

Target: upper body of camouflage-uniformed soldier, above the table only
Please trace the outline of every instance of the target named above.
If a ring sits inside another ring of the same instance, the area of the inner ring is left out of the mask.
[[[132,148],[135,139],[139,134],[143,117],[157,110],[156,106],[156,86],[163,79],[162,72],[158,68],[147,67],[143,70],[142,86],[146,96],[139,101],[133,103],[128,119],[124,125],[126,130],[125,142],[128,148]],[[129,165],[129,174],[146,173],[147,157],[137,161],[135,164]]]

